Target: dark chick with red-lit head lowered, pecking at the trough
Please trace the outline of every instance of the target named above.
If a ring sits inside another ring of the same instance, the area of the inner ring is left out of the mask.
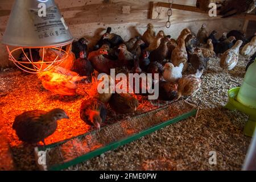
[[[90,126],[95,126],[96,129],[101,128],[107,113],[106,106],[97,98],[89,98],[83,101],[80,107],[80,118],[82,121]]]

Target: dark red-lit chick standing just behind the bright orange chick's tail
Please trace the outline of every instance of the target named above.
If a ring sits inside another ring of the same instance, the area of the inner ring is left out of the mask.
[[[79,76],[90,77],[93,73],[92,63],[86,58],[86,54],[81,51],[80,57],[73,64],[73,71],[79,73]]]

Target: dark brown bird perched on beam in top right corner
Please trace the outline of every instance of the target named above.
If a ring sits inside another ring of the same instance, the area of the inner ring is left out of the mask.
[[[250,13],[255,9],[256,0],[228,0],[222,3],[219,12],[222,18],[227,18],[234,15],[243,13]]]

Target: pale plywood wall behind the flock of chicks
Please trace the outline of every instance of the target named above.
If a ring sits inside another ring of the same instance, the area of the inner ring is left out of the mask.
[[[13,2],[14,0],[0,1],[0,41]],[[164,30],[166,34],[170,34],[174,38],[177,38],[179,32],[185,27],[190,28],[192,32],[197,32],[202,23],[208,24],[209,31],[217,30],[219,35],[223,31],[241,30],[243,26],[243,20],[241,19],[209,18],[209,16],[203,14],[174,10],[171,18],[172,26],[166,28],[167,17],[166,19],[148,19],[150,1],[147,0],[55,0],[55,2],[68,23],[73,36],[75,38],[85,36],[90,40],[90,44],[96,42],[108,26],[112,27],[113,32],[121,35],[125,40],[131,36],[143,34],[147,23],[150,22],[155,25],[156,31]],[[162,2],[168,2],[168,0]],[[174,2],[182,5],[195,5],[196,0],[175,0]],[[127,8],[130,10],[127,11]],[[10,65],[7,58],[6,49],[0,44],[0,67]]]

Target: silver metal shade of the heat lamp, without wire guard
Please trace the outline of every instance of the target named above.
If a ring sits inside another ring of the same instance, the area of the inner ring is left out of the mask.
[[[44,3],[46,16],[39,16],[39,3]],[[53,0],[14,1],[3,44],[31,48],[64,46],[72,41],[73,36]]]

